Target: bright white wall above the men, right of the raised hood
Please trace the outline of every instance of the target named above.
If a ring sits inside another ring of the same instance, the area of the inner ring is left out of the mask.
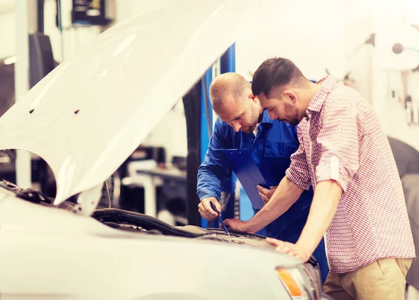
[[[351,86],[372,103],[389,136],[419,150],[419,125],[405,122],[402,73],[383,71],[369,36],[392,24],[419,24],[417,0],[263,1],[258,26],[236,43],[237,72],[247,78],[268,57],[287,57],[305,76],[318,79],[325,68],[339,79],[351,71]],[[406,92],[419,101],[418,73],[406,75]],[[419,103],[418,103],[419,104]]]

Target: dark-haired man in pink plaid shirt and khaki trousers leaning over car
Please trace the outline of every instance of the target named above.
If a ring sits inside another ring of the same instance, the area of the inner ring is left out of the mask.
[[[372,106],[332,76],[317,83],[288,59],[272,58],[253,75],[252,92],[272,119],[298,124],[300,147],[270,201],[231,229],[256,232],[311,185],[314,199],[298,241],[267,242],[307,261],[325,235],[335,299],[404,299],[415,248],[402,184]]]

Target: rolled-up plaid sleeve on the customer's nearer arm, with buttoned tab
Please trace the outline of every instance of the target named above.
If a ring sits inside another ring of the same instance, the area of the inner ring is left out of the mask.
[[[358,120],[355,104],[335,99],[325,103],[317,136],[320,159],[316,183],[335,180],[346,192],[359,169]]]

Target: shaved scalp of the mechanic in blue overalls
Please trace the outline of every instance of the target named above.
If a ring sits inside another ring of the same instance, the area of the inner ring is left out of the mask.
[[[249,80],[237,73],[223,73],[210,85],[210,100],[214,108],[221,108],[228,99],[243,99],[249,93]]]

